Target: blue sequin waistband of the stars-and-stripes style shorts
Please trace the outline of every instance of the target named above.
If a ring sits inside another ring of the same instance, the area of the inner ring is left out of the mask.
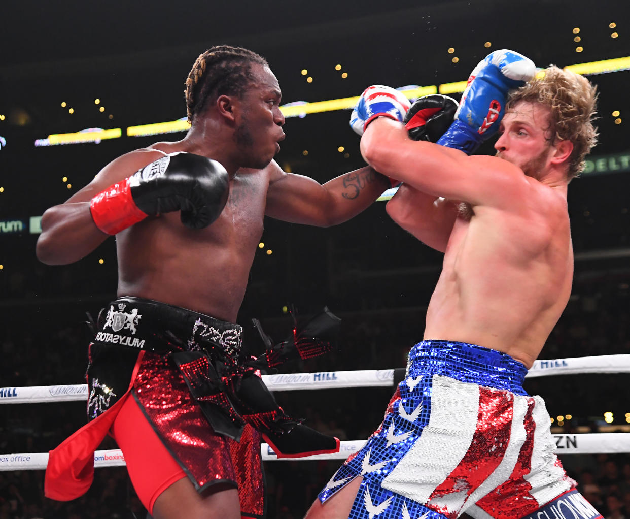
[[[517,395],[527,394],[522,388],[527,375],[523,363],[506,353],[467,342],[418,342],[409,353],[407,375],[415,377],[426,373],[507,389]]]

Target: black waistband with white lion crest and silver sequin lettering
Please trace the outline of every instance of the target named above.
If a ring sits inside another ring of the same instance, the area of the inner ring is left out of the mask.
[[[179,306],[125,296],[101,310],[96,341],[166,351],[198,350],[212,343],[234,355],[243,346],[243,327]]]

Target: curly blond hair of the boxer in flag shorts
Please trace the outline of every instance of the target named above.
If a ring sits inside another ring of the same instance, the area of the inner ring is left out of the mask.
[[[547,141],[570,141],[573,151],[569,157],[568,177],[579,175],[584,169],[584,158],[597,144],[597,128],[593,119],[597,103],[597,88],[587,78],[551,65],[508,96],[506,110],[526,101],[549,107]]]

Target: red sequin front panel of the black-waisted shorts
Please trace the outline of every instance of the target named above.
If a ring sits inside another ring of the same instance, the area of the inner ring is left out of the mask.
[[[245,431],[250,430],[247,435],[243,433],[241,443],[215,434],[167,356],[147,352],[134,389],[152,426],[179,464],[186,467],[197,489],[234,481],[239,496],[242,493],[246,499],[241,499],[241,511],[262,515],[259,434],[246,427]]]

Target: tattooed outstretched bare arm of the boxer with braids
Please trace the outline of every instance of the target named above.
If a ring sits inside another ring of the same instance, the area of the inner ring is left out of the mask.
[[[285,173],[275,162],[265,214],[272,218],[328,227],[356,216],[391,187],[389,180],[369,166],[333,178],[316,180]]]

